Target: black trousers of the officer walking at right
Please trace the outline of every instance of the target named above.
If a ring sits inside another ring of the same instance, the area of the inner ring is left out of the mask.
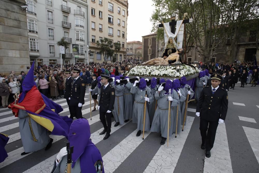
[[[218,125],[218,122],[200,119],[200,135],[202,136],[202,144],[205,144],[207,151],[213,147]]]

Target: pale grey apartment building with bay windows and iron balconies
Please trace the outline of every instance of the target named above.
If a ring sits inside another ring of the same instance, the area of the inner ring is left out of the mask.
[[[65,63],[86,63],[87,0],[26,0],[30,62],[60,64],[57,41],[69,43]]]

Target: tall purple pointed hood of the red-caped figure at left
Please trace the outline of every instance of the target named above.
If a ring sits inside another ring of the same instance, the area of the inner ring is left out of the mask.
[[[21,95],[19,96],[19,103],[23,101],[23,99],[25,98],[25,95],[28,91],[30,91],[32,89],[32,87],[35,85],[35,82],[34,82],[34,61],[32,63],[32,66],[30,68],[30,70],[28,71],[25,79],[23,80],[23,85],[22,85],[22,88],[23,88],[23,92],[21,93]]]

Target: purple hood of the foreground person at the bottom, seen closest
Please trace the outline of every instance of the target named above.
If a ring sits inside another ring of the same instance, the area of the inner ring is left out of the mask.
[[[74,152],[72,154],[72,168],[74,167],[77,159],[84,153],[86,147],[94,145],[90,140],[90,136],[90,125],[87,119],[80,118],[71,124],[68,134],[68,141],[70,142],[70,146],[74,146]],[[87,161],[84,163],[87,164]],[[87,167],[87,165],[82,166]]]

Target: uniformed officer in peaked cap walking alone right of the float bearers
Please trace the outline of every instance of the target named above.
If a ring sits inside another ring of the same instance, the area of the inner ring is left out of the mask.
[[[210,157],[218,124],[224,122],[228,109],[226,89],[219,87],[222,78],[218,74],[211,75],[211,86],[203,88],[196,107],[196,116],[200,116],[200,134],[205,156]]]

